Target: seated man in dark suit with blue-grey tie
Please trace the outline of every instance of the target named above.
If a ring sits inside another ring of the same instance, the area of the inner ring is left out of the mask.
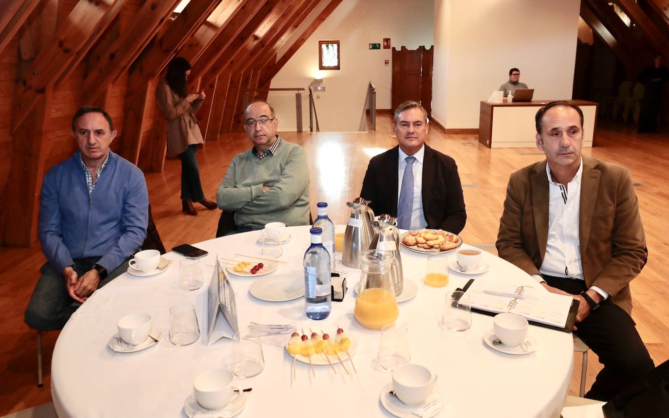
[[[398,146],[371,161],[360,196],[377,214],[397,217],[400,229],[434,228],[460,233],[467,214],[456,162],[425,144],[427,112],[407,101],[395,110]]]

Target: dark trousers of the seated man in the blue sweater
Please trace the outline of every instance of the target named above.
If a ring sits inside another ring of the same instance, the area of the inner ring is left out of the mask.
[[[84,276],[98,262],[98,259],[100,257],[74,260],[74,271],[77,276]],[[109,272],[106,278],[100,280],[98,289],[126,270],[128,270],[128,260],[122,262],[120,266]],[[25,308],[25,323],[35,330],[60,330],[81,304],[70,297],[62,272],[57,272],[48,262],[41,266],[39,272],[41,277],[33,290],[28,307]]]

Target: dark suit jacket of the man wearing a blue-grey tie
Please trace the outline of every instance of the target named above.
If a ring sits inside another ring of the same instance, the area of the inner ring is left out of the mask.
[[[376,215],[397,216],[399,146],[379,154],[367,166],[360,196],[371,200]],[[428,228],[460,233],[467,220],[456,162],[425,144],[423,215]]]

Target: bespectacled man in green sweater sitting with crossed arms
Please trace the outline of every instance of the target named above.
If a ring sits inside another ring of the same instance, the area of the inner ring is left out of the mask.
[[[237,232],[263,229],[266,223],[309,223],[309,169],[306,152],[276,134],[279,120],[267,102],[244,111],[253,147],[235,155],[218,187],[218,207],[235,213]]]

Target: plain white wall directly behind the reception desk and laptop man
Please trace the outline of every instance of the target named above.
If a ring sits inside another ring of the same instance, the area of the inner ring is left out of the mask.
[[[480,101],[520,69],[535,100],[570,99],[580,0],[436,0],[432,116],[478,128]]]

